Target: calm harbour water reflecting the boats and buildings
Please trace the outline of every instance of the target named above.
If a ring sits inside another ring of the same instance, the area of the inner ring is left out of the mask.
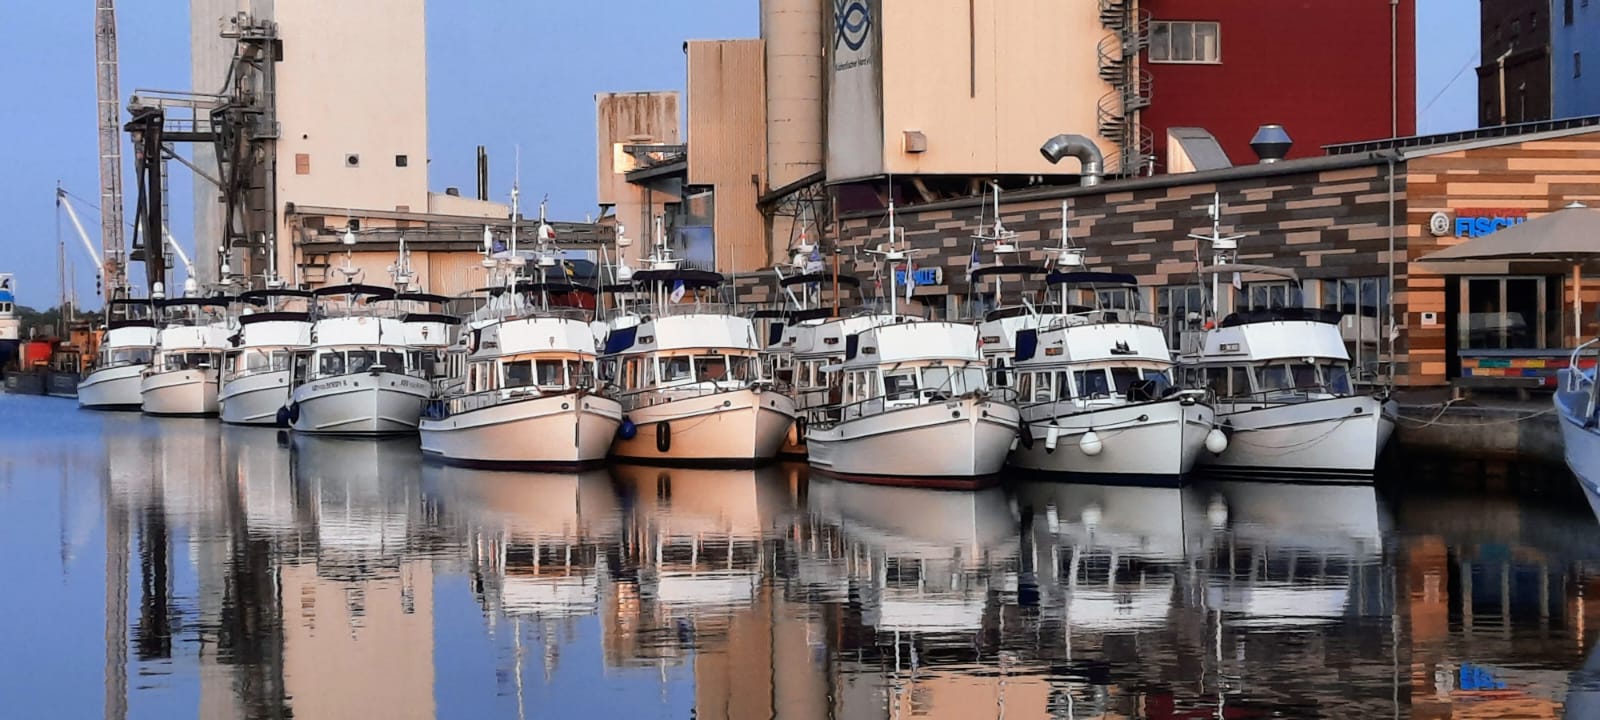
[[[0,416],[3,717],[1600,717],[1560,469],[941,493]]]

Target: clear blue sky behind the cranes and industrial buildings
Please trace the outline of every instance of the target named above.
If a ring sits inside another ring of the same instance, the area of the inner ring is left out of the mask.
[[[123,99],[134,88],[189,86],[189,3],[120,0],[117,21]],[[1418,0],[1416,26],[1418,131],[1472,126],[1477,3]],[[498,197],[509,189],[520,144],[526,197],[549,194],[552,214],[582,219],[595,211],[594,93],[682,90],[683,40],[754,37],[757,29],[757,0],[432,0],[430,186],[472,187],[474,147],[483,144]],[[99,195],[93,30],[93,0],[0,2],[0,130],[8,141],[0,198],[10,226],[0,272],[16,272],[19,301],[35,307],[53,306],[59,293],[56,181],[91,202]],[[173,234],[192,248],[192,184],[178,165],[171,186]],[[125,189],[131,221],[131,174]],[[99,219],[85,214],[98,245]],[[80,302],[98,307],[91,261],[70,227],[62,232]]]

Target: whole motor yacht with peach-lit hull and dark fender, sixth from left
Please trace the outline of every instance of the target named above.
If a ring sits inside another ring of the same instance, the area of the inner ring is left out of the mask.
[[[634,307],[638,323],[613,323],[606,338],[606,373],[626,413],[611,453],[696,466],[776,458],[795,402],[765,376],[755,325],[731,307],[702,302],[722,275],[680,267],[658,242],[650,269],[630,280],[653,304]]]

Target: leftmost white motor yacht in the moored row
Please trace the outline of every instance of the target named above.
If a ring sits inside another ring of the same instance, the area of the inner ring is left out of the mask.
[[[106,302],[106,338],[94,366],[78,382],[78,406],[139,410],[139,382],[155,355],[155,318],[147,299]]]

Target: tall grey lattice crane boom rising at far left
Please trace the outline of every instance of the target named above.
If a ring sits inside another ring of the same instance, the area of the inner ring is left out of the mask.
[[[122,242],[122,109],[117,86],[117,3],[94,0],[94,96],[101,154],[101,283],[106,298],[126,293]]]

